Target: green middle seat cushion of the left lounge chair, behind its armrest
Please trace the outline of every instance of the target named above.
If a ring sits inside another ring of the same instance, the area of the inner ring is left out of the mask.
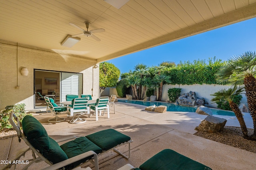
[[[61,145],[60,147],[62,148],[62,150],[64,150],[64,152],[66,153],[68,158],[72,158],[74,156],[77,156],[77,155],[87,152],[89,150],[93,150],[96,154],[99,154],[102,152],[102,149],[100,147],[98,147],[97,145],[92,143],[86,137],[79,137],[73,141],[70,141],[70,142],[67,142],[67,143]],[[72,169],[72,168],[78,166],[79,164],[85,162],[86,160],[89,160],[92,157],[93,156],[89,156],[87,158],[84,158],[82,160],[74,162],[74,163],[68,165],[68,169]]]

